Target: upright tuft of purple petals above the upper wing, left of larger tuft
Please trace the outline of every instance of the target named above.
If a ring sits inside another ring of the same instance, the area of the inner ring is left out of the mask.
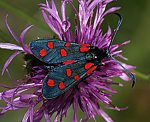
[[[59,17],[54,0],[51,1],[51,6],[49,5],[48,1],[46,1],[46,4],[40,4],[40,6],[42,9],[42,15],[48,26],[59,36],[61,40],[63,39],[70,41],[71,40],[70,22],[67,20],[66,16],[66,2],[68,1],[67,0],[62,1],[61,5],[62,20]]]

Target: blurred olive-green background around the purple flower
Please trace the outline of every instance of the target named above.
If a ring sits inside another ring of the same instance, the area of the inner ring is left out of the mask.
[[[55,0],[56,1],[56,0]],[[56,1],[56,3],[59,0]],[[76,0],[75,0],[76,1]],[[34,27],[26,35],[26,43],[32,40],[53,36],[52,31],[44,23],[38,4],[45,0],[0,0],[0,42],[16,43],[7,31],[5,16],[16,34],[33,24]],[[60,2],[58,2],[60,4]],[[57,4],[58,4],[57,3]],[[77,3],[77,2],[76,2]],[[137,67],[136,71],[144,74],[150,73],[150,1],[149,0],[118,0],[109,6],[121,6],[120,13],[124,21],[117,34],[114,43],[131,40],[129,45],[122,47],[125,61]],[[58,5],[59,6],[59,5]],[[70,13],[69,13],[70,12]],[[73,19],[72,11],[68,11],[69,19]],[[110,17],[111,18],[111,17]],[[110,25],[116,24],[116,20],[107,18]],[[11,51],[0,50],[0,71]],[[15,58],[9,69],[14,79],[22,78],[25,70],[22,68],[23,56]],[[131,88],[130,83],[125,87],[116,87],[119,93],[113,96],[114,105],[128,106],[125,111],[106,110],[115,122],[149,122],[150,118],[150,79],[148,76],[138,73],[137,83]],[[118,79],[117,79],[118,80]],[[0,76],[0,82],[11,85],[8,76]],[[119,80],[119,82],[122,82]],[[2,91],[3,89],[0,89]],[[0,117],[0,122],[20,122],[26,110],[10,111]],[[79,113],[79,117],[81,117]],[[68,113],[64,122],[71,122],[72,112]],[[103,122],[100,117],[98,122]]]

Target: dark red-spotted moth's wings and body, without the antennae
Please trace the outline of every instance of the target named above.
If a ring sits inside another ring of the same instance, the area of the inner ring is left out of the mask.
[[[33,41],[30,48],[48,71],[43,79],[42,91],[46,99],[56,98],[80,83],[108,57],[108,51],[105,49],[56,39]]]

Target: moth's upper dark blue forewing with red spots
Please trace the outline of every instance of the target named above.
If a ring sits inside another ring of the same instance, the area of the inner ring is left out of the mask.
[[[30,43],[32,53],[48,64],[62,63],[67,60],[84,60],[89,44],[69,43],[60,40],[40,39]]]

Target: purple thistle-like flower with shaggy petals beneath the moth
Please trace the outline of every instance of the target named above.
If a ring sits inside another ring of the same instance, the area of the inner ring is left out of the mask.
[[[53,32],[57,34],[60,40],[87,43],[104,49],[108,48],[113,31],[108,27],[108,31],[103,33],[101,24],[106,15],[120,9],[119,7],[113,7],[106,10],[107,4],[112,1],[113,0],[78,0],[79,10],[77,10],[73,5],[73,1],[62,0],[61,17],[59,16],[54,0],[51,0],[50,3],[46,1],[45,4],[40,4],[40,8],[45,22]],[[66,6],[68,4],[71,5],[75,11],[74,31],[71,30],[72,25],[66,14]],[[94,14],[95,11],[96,13]],[[6,25],[19,46],[11,43],[0,43],[0,48],[15,51],[6,61],[2,74],[5,71],[9,73],[8,65],[18,54],[25,53],[32,55],[30,47],[24,43],[24,36],[32,26],[26,28],[18,38],[9,27],[7,17]],[[118,51],[117,49],[128,43],[129,41],[122,44],[111,45],[110,54],[114,57],[125,59],[121,54],[122,51]],[[2,110],[1,114],[9,110],[28,108],[23,117],[23,122],[38,122],[43,117],[45,117],[47,122],[50,122],[50,118],[54,113],[56,113],[54,122],[57,122],[59,119],[62,121],[68,109],[72,106],[74,112],[72,122],[78,121],[78,108],[86,113],[86,116],[80,120],[81,122],[91,118],[95,120],[96,115],[103,117],[107,122],[113,122],[103,111],[101,104],[103,103],[108,108],[117,111],[124,110],[125,108],[121,109],[112,105],[112,94],[117,93],[112,86],[123,86],[123,84],[113,82],[111,78],[120,77],[126,81],[130,80],[130,78],[126,75],[124,69],[113,59],[105,59],[103,63],[105,65],[99,66],[100,70],[94,71],[90,77],[84,79],[80,84],[51,100],[46,100],[42,96],[42,80],[48,71],[46,71],[42,65],[32,66],[31,72],[29,72],[25,78],[16,81],[16,87],[0,93],[0,100],[6,102],[6,106],[0,107]],[[121,64],[128,70],[135,68],[124,63]],[[41,106],[39,107],[39,105]]]

